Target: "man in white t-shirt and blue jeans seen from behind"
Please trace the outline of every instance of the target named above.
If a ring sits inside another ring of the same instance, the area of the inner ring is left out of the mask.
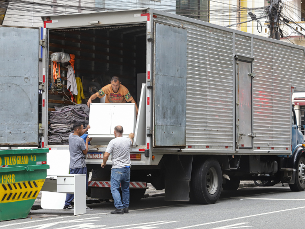
[[[106,166],[106,162],[110,154],[112,160],[111,169],[111,194],[114,200],[115,211],[111,211],[111,214],[124,214],[128,213],[129,206],[129,182],[130,182],[130,146],[132,145],[132,139],[134,134],[130,133],[128,138],[123,137],[123,128],[116,126],[114,128],[114,137],[112,139],[106,152],[104,153],[103,163],[101,167]],[[120,184],[122,190],[122,199],[120,196]]]

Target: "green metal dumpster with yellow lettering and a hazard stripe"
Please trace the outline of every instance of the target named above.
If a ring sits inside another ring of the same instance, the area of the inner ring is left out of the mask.
[[[48,152],[0,150],[0,221],[28,216],[47,177]]]

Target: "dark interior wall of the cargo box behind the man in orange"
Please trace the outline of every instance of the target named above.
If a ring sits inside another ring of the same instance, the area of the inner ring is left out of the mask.
[[[75,77],[80,77],[85,99],[93,92],[110,83],[113,76],[119,76],[121,84],[126,86],[137,101],[137,74],[145,73],[146,63],[146,24],[116,26],[115,28],[92,29],[75,28],[49,31],[49,56],[54,52],[75,55]],[[67,68],[60,63],[63,90],[52,91],[51,64],[49,58],[48,121],[54,106],[73,104],[67,91]],[[140,75],[140,74],[139,74]],[[95,84],[92,84],[92,81]],[[96,84],[97,83],[97,84]],[[92,87],[93,85],[93,87]],[[100,85],[100,86],[95,86]],[[89,91],[89,87],[91,91]],[[100,88],[99,88],[100,87]],[[96,98],[93,102],[101,102]],[[101,117],[102,119],[102,117]],[[50,122],[48,122],[48,127]],[[50,133],[48,132],[50,135]],[[63,144],[68,144],[65,141]],[[50,145],[50,144],[49,144]],[[58,144],[56,144],[58,145]]]

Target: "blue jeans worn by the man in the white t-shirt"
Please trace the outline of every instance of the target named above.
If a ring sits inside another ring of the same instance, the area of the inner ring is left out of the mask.
[[[129,206],[129,182],[130,168],[111,169],[111,194],[114,200],[114,206],[117,209]],[[120,184],[122,190],[122,200],[120,195]],[[122,203],[123,202],[123,203]]]

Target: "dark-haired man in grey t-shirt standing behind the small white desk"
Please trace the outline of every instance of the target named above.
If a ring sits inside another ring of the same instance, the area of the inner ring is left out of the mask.
[[[84,130],[84,126],[77,122],[73,125],[74,133],[69,136],[69,151],[70,151],[70,174],[86,174],[86,191],[88,190],[88,174],[86,167],[86,155],[88,153],[88,143],[92,138],[86,139],[86,144],[84,140],[80,137],[82,136],[90,126]],[[67,194],[64,210],[74,210],[71,206],[71,202],[74,199],[74,194]],[[87,210],[92,210],[92,208],[87,206]]]

